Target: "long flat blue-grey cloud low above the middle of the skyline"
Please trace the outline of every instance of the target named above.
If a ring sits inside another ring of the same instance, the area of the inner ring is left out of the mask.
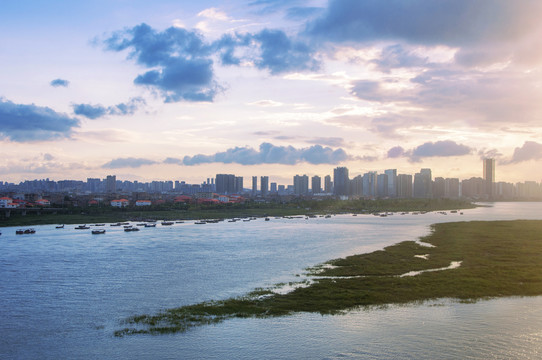
[[[308,162],[310,164],[337,164],[347,159],[348,155],[343,149],[333,150],[329,147],[322,147],[321,145],[296,149],[293,146],[275,146],[270,143],[262,143],[259,150],[250,147],[235,147],[213,155],[198,154],[185,156],[183,164],[199,165],[215,162],[242,165],[295,165],[300,162]]]

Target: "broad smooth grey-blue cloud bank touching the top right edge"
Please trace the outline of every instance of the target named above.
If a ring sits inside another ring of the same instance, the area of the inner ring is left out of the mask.
[[[541,9],[530,0],[332,0],[306,32],[335,42],[472,46],[529,34]]]

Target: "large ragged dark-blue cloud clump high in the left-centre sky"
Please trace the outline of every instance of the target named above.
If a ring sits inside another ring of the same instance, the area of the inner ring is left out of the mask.
[[[223,65],[238,66],[252,61],[271,74],[315,70],[315,51],[281,30],[256,34],[228,34],[206,43],[201,34],[178,27],[156,31],[147,24],[116,32],[104,41],[107,50],[129,51],[128,58],[148,71],[134,79],[136,85],[157,90],[166,102],[213,101],[224,90],[218,84],[212,57],[218,54]],[[254,55],[241,58],[237,48],[256,47]]]

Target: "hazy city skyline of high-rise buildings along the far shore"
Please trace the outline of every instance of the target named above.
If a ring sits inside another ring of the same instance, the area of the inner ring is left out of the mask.
[[[249,186],[246,186],[249,185]],[[69,195],[69,196],[68,196]],[[336,167],[333,176],[295,175],[288,185],[269,182],[268,176],[252,176],[250,184],[242,176],[217,174],[201,184],[184,181],[120,181],[115,175],[105,179],[88,178],[52,181],[32,180],[19,184],[0,181],[0,207],[95,205],[115,207],[149,206],[165,202],[200,204],[253,201],[282,202],[304,197],[321,199],[356,198],[466,198],[471,200],[542,200],[542,184],[535,181],[506,183],[495,181],[495,160],[483,160],[483,177],[460,180],[435,177],[431,169],[398,174],[397,169],[383,173],[369,171],[349,176],[348,168]],[[74,200],[75,199],[75,200]]]

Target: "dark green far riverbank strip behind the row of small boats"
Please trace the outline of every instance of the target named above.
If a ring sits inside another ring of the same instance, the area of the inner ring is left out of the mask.
[[[444,211],[474,208],[476,205],[464,200],[449,199],[384,199],[384,200],[333,200],[296,201],[287,204],[247,203],[242,205],[178,207],[157,206],[149,208],[87,207],[63,208],[54,213],[43,211],[12,211],[9,217],[0,216],[0,227],[33,226],[48,224],[93,224],[144,220],[199,220],[226,219],[251,216],[296,216],[338,213],[375,213],[404,211]],[[0,211],[1,213],[1,211]]]

